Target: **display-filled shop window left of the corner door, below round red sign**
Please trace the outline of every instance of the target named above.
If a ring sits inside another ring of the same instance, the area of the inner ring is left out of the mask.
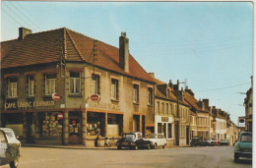
[[[39,136],[40,138],[61,138],[63,119],[58,119],[59,112],[38,113]]]

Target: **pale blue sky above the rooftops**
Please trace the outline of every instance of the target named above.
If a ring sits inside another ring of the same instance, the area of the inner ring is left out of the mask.
[[[1,41],[18,28],[70,28],[129,50],[164,83],[185,82],[197,99],[230,114],[237,124],[253,75],[250,2],[1,2]],[[185,87],[185,84],[180,84]]]

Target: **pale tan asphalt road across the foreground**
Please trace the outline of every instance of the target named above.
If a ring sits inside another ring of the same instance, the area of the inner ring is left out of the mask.
[[[233,146],[165,149],[67,149],[23,147],[19,168],[77,167],[252,167],[251,159],[233,162]],[[3,168],[9,166],[3,166]]]

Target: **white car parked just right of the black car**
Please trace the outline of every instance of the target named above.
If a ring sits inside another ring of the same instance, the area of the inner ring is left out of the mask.
[[[151,141],[151,148],[156,148],[157,146],[164,148],[167,144],[167,140],[164,138],[163,134],[149,134],[145,137],[145,140]]]

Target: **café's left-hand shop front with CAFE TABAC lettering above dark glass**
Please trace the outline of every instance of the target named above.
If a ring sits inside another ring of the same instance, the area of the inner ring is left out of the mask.
[[[1,127],[13,129],[25,143],[63,143],[63,111],[51,100],[6,102]]]

